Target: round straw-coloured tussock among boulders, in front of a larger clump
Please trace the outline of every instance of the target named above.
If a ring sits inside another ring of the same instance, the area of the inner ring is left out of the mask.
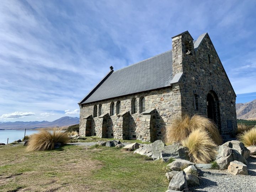
[[[205,130],[193,130],[182,145],[188,148],[191,160],[196,163],[209,163],[217,154],[217,145]]]

